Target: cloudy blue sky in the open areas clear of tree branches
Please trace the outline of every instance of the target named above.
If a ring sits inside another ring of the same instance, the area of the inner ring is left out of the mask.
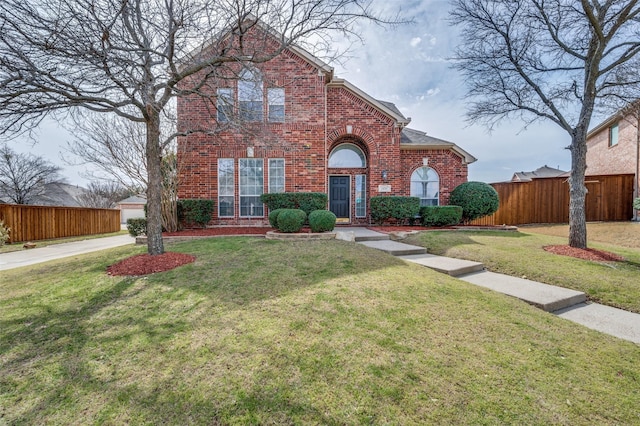
[[[465,120],[464,81],[450,67],[457,44],[456,29],[447,22],[450,4],[442,0],[379,1],[397,7],[412,24],[394,28],[361,25],[364,44],[355,43],[340,62],[331,63],[338,77],[372,97],[393,102],[411,118],[409,127],[456,143],[478,161],[469,165],[469,180],[501,182],[515,172],[547,165],[568,171],[566,132],[551,122],[524,128],[521,121],[504,121],[491,133]],[[597,120],[592,121],[597,124]],[[11,143],[19,152],[32,152],[63,168],[68,183],[86,186],[86,166],[69,166],[65,151],[72,135],[53,121],[43,123],[33,141]]]

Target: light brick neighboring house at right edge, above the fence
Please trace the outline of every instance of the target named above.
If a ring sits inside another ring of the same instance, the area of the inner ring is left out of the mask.
[[[594,127],[587,135],[587,175],[635,175],[638,195],[640,145],[636,113],[620,111]]]

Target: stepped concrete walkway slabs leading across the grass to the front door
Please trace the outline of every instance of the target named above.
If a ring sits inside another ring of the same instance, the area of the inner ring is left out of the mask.
[[[468,283],[516,297],[561,318],[640,344],[640,314],[588,303],[583,292],[496,274],[486,271],[484,265],[478,262],[419,252],[419,249],[424,248],[392,241],[387,234],[369,229],[353,227],[340,230],[353,232],[355,241],[360,244],[394,254],[407,262],[417,263]],[[375,244],[371,243],[372,240]]]

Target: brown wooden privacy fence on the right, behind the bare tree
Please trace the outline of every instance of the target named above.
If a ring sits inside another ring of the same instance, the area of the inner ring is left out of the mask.
[[[631,220],[634,177],[632,174],[587,176],[587,221]],[[567,177],[493,183],[491,186],[500,196],[500,208],[491,216],[473,221],[473,225],[569,222]]]

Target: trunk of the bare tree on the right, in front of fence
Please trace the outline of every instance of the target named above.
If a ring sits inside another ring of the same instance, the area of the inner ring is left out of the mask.
[[[587,187],[584,176],[587,169],[586,131],[576,130],[571,140],[571,176],[569,177],[569,245],[587,248],[587,215],[585,201]]]

